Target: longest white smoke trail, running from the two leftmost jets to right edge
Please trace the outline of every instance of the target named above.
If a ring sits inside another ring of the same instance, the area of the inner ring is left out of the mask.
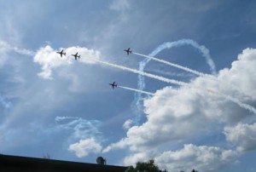
[[[90,60],[94,60],[94,59],[90,59]],[[173,84],[177,84],[177,85],[180,85],[180,86],[183,86],[183,87],[189,87],[189,88],[197,89],[197,90],[200,90],[200,91],[206,91],[206,92],[212,93],[214,95],[220,95],[220,96],[224,97],[225,99],[236,103],[238,106],[241,106],[242,108],[247,109],[249,112],[253,112],[254,114],[256,114],[256,109],[253,106],[242,103],[240,100],[237,100],[237,99],[231,97],[230,95],[224,95],[224,94],[219,93],[218,91],[215,91],[215,90],[212,90],[212,89],[204,89],[202,87],[192,86],[189,83],[184,83],[184,82],[177,81],[177,80],[174,80],[174,79],[169,79],[169,78],[166,78],[166,77],[160,77],[160,76],[153,75],[153,74],[147,73],[147,72],[137,71],[136,69],[131,69],[131,68],[125,67],[125,66],[115,65],[115,64],[112,64],[112,63],[109,63],[109,62],[106,62],[106,61],[101,61],[101,60],[94,60],[94,61],[96,61],[98,63],[102,63],[103,65],[113,66],[115,68],[119,68],[119,69],[122,69],[124,71],[137,73],[137,74],[143,75],[145,77],[151,77],[151,78],[154,78],[154,79],[166,82],[166,83],[173,83]]]

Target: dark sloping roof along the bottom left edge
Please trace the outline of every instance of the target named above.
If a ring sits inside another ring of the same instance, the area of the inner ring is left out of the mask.
[[[2,172],[125,172],[126,167],[0,155]]]

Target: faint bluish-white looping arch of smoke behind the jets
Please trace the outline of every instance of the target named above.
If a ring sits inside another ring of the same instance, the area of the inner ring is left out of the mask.
[[[179,47],[179,46],[183,46],[183,45],[191,45],[192,47],[194,47],[195,49],[198,49],[202,56],[205,57],[205,59],[207,60],[207,64],[208,66],[210,66],[210,70],[212,72],[212,74],[216,74],[216,67],[215,64],[211,58],[211,55],[209,53],[209,49],[207,49],[204,45],[200,45],[198,43],[196,43],[194,40],[191,39],[181,39],[175,42],[167,42],[167,43],[163,43],[160,46],[158,46],[156,49],[154,49],[154,51],[152,51],[150,54],[148,54],[149,56],[155,56],[156,54],[159,54],[160,51],[164,50],[164,49],[172,49],[174,47]],[[148,64],[148,62],[150,61],[150,59],[144,59],[139,63],[139,70],[143,72],[145,66]],[[138,75],[138,81],[137,81],[137,89],[145,89],[145,79],[142,75]],[[134,123],[136,125],[139,124],[140,118],[142,116],[142,112],[143,112],[143,106],[142,106],[142,101],[143,101],[143,96],[141,93],[136,93],[133,102],[131,103],[132,109],[133,111],[136,111],[136,117],[134,120]]]

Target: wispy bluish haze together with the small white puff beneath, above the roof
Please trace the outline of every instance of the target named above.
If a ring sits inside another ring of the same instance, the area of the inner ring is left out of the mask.
[[[97,120],[57,116],[55,126],[42,132],[46,135],[67,134],[64,139],[67,151],[73,152],[78,158],[83,158],[90,153],[102,151],[102,145],[97,141],[102,139],[102,132],[99,130],[101,124]]]

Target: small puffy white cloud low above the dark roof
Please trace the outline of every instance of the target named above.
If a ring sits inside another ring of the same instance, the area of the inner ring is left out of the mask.
[[[75,152],[78,158],[83,158],[90,153],[101,152],[102,146],[94,138],[79,140],[68,147],[70,152]]]

